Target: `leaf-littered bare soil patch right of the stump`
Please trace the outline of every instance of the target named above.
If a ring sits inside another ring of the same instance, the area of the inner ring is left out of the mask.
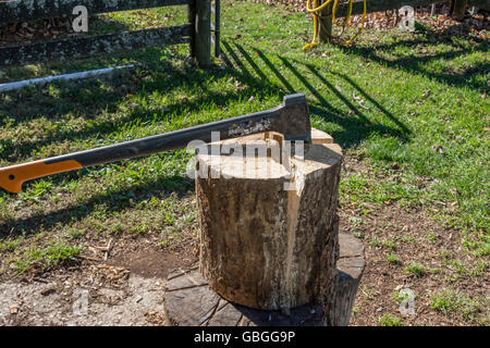
[[[353,157],[345,158],[343,169],[343,175],[370,171]],[[365,245],[366,269],[351,325],[378,325],[383,315],[401,318],[403,325],[488,325],[488,265],[464,247],[461,231],[441,226],[421,208],[343,202],[340,232]],[[421,273],[408,271],[412,265]],[[415,293],[413,315],[400,311],[395,298],[402,289]],[[461,294],[478,308],[470,313],[434,310],[432,298],[443,290]]]

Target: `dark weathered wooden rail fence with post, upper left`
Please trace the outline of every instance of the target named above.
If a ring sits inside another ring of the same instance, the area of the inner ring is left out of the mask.
[[[213,41],[219,46],[219,0],[0,0],[0,24],[68,17],[83,5],[91,14],[171,5],[188,7],[188,23],[117,34],[35,42],[0,48],[1,65],[23,65],[51,60],[89,57],[151,46],[189,44],[199,66],[211,65],[211,12],[215,13]],[[219,48],[217,49],[219,52]]]

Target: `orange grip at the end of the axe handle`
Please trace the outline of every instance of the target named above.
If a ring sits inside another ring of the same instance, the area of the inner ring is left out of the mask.
[[[73,160],[52,164],[46,164],[44,161],[36,161],[0,167],[0,187],[9,192],[19,194],[22,190],[22,184],[24,184],[24,182],[51,174],[79,170],[82,167],[82,164]]]

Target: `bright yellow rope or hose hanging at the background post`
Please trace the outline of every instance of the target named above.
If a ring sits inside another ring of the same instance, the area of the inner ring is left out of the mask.
[[[313,0],[313,8],[311,8],[311,0],[307,0],[307,2],[306,2],[306,11],[308,11],[309,13],[313,13],[313,15],[314,15],[314,38],[313,38],[311,44],[308,44],[305,47],[303,47],[304,50],[314,48],[315,46],[318,45],[317,44],[318,27],[319,27],[319,25],[323,26],[323,23],[321,20],[332,16],[332,23],[335,23],[335,12],[336,12],[336,8],[339,7],[339,0],[327,0],[326,2],[323,2],[320,5],[318,5],[318,2],[319,2],[319,0]],[[327,8],[332,2],[333,2],[332,14],[322,16],[320,14],[320,11],[323,10],[324,8]],[[342,30],[341,30],[339,37],[341,37],[344,34],[344,30],[347,26],[348,20],[351,18],[352,3],[353,3],[353,0],[348,0],[347,14],[345,15],[344,22],[342,23]],[[366,13],[367,13],[367,4],[366,4],[366,0],[364,0],[364,13],[363,13],[363,20],[360,22],[360,27],[357,30],[356,35],[354,35],[352,38],[350,38],[348,40],[343,42],[344,45],[352,44],[355,40],[355,38],[360,34],[360,32],[363,30],[363,27],[364,27],[364,23],[366,21]],[[327,28],[324,28],[324,27],[323,27],[323,30],[328,32]]]

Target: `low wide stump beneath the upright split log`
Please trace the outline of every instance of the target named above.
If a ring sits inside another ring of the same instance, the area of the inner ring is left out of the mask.
[[[364,271],[363,244],[339,235],[338,283],[330,309],[321,304],[287,311],[257,310],[226,301],[216,294],[198,270],[177,270],[167,282],[164,309],[177,326],[344,326],[348,325],[354,299]]]

